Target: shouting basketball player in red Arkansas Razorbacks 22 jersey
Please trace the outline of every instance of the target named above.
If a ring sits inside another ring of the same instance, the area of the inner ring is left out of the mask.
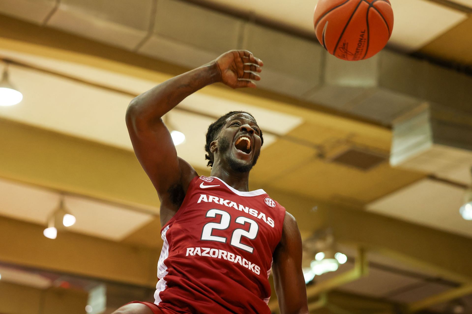
[[[230,112],[210,125],[205,149],[211,177],[199,177],[177,156],[161,119],[215,82],[255,88],[262,65],[247,50],[231,50],[130,103],[126,125],[159,194],[164,244],[155,302],[127,304],[115,314],[269,314],[271,267],[281,313],[308,314],[295,219],[263,190],[248,191],[263,143],[254,117]]]

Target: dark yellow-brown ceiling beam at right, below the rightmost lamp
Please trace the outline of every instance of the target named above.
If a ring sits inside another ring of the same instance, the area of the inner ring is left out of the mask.
[[[324,209],[337,242],[360,245],[455,282],[472,282],[472,239],[367,211]],[[316,217],[313,217],[316,219]]]

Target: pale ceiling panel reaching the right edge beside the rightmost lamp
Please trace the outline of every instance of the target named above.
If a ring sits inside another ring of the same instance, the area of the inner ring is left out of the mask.
[[[432,179],[422,179],[370,203],[367,210],[472,237],[472,224],[459,214],[464,189]]]

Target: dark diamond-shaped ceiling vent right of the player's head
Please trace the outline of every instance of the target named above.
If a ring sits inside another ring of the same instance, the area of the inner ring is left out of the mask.
[[[351,146],[330,158],[330,161],[367,171],[386,161],[387,158],[386,155],[374,153],[365,148]]]

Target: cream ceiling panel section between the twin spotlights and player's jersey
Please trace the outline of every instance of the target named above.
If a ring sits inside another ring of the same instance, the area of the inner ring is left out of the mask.
[[[113,241],[121,241],[154,218],[152,215],[76,196],[66,196],[64,205],[76,217],[76,223],[67,230]],[[158,233],[159,230],[156,230]]]

